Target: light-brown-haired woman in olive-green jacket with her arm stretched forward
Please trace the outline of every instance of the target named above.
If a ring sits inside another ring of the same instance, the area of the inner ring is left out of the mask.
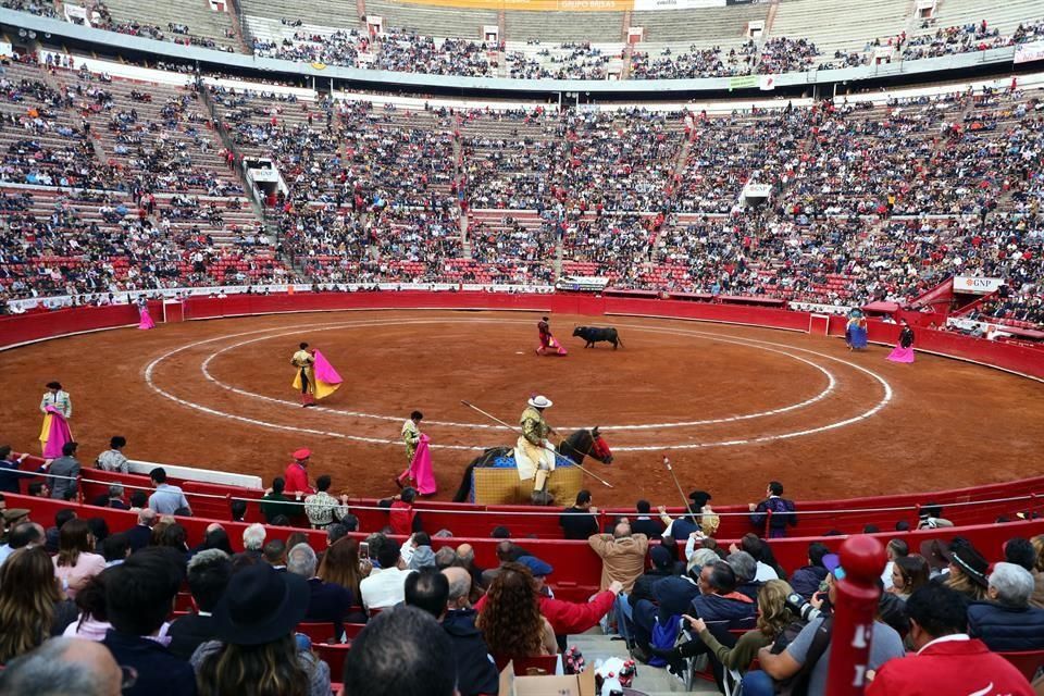
[[[663,651],[663,657],[671,663],[671,670],[675,671],[679,669],[680,658],[709,652],[725,669],[746,672],[750,662],[758,657],[758,650],[775,643],[783,630],[794,620],[791,610],[786,608],[786,597],[793,592],[785,580],[770,580],[761,585],[758,589],[756,627],[739,636],[733,647],[722,645],[703,619],[682,614],[688,622],[691,632],[698,637],[679,645],[673,650]],[[714,668],[716,675],[720,676],[718,664],[714,664]]]

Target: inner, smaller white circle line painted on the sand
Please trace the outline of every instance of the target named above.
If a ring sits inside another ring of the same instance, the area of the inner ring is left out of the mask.
[[[471,322],[474,322],[474,321],[476,321],[476,320],[470,320],[470,321],[471,321]],[[487,321],[487,322],[493,322],[493,323],[497,323],[496,320],[485,320],[485,321]],[[508,321],[508,320],[505,320],[505,321]],[[444,320],[444,321],[439,321],[439,320],[418,320],[417,322],[405,322],[405,321],[401,321],[401,320],[400,320],[400,321],[395,321],[395,322],[388,322],[388,325],[398,326],[398,325],[401,325],[401,324],[403,324],[403,323],[409,323],[409,324],[414,324],[414,323],[418,323],[418,324],[443,324],[443,323],[462,323],[462,322],[459,322],[459,321],[456,321],[456,320]],[[517,320],[511,320],[511,323],[523,323],[523,322],[519,322],[519,321],[517,321]],[[381,324],[374,324],[374,323],[366,324],[366,326],[378,326],[378,325],[381,325]],[[349,323],[346,323],[346,324],[343,324],[343,325],[325,325],[325,326],[323,326],[323,327],[321,327],[321,328],[319,328],[319,327],[310,327],[309,331],[320,332],[320,331],[335,331],[335,330],[337,330],[337,328],[355,328],[355,327],[356,327],[356,326],[349,322]],[[281,331],[281,330],[274,328],[274,330],[272,330],[272,331]],[[645,331],[645,330],[642,328],[642,330],[638,330],[638,331]],[[268,335],[261,336],[261,337],[259,337],[259,338],[248,338],[247,340],[241,340],[241,341],[232,344],[232,345],[229,345],[229,346],[225,346],[225,347],[222,348],[221,350],[217,350],[216,352],[213,352],[213,353],[211,353],[210,356],[208,356],[207,359],[203,360],[202,364],[200,365],[200,370],[202,371],[203,376],[204,376],[209,382],[211,382],[211,383],[213,383],[213,384],[222,387],[223,389],[227,389],[227,390],[229,390],[229,391],[232,391],[232,393],[234,393],[234,394],[238,394],[239,396],[245,396],[245,397],[249,397],[249,398],[252,398],[252,399],[258,399],[258,400],[261,400],[261,401],[268,401],[268,402],[270,402],[270,403],[279,403],[279,405],[282,405],[282,406],[286,406],[286,407],[289,407],[289,408],[300,408],[300,405],[299,405],[299,403],[296,403],[295,401],[290,401],[290,400],[288,400],[288,399],[281,399],[281,398],[277,398],[277,397],[265,396],[265,395],[263,395],[263,394],[258,394],[258,393],[256,393],[256,391],[249,391],[249,390],[247,390],[247,389],[240,389],[240,388],[235,387],[235,386],[232,386],[232,385],[229,385],[229,384],[225,384],[224,382],[221,382],[220,380],[217,380],[216,377],[214,377],[214,376],[211,374],[211,372],[210,372],[210,363],[211,363],[211,361],[212,361],[214,358],[217,358],[219,356],[221,356],[221,355],[223,355],[223,353],[225,353],[225,352],[228,352],[228,351],[231,351],[231,350],[235,350],[235,349],[237,349],[237,348],[241,348],[243,346],[246,346],[246,345],[249,345],[249,344],[259,343],[259,341],[263,341],[263,340],[270,340],[270,339],[273,339],[273,338],[282,338],[282,337],[285,337],[285,336],[293,336],[293,335],[297,335],[297,334],[300,334],[300,328],[297,328],[297,330],[294,330],[294,331],[287,331],[287,332],[283,332],[283,333],[268,334]],[[697,338],[704,337],[701,334],[695,333],[695,332],[694,332],[694,333],[691,333],[691,334],[688,334],[688,335],[692,335],[692,336],[697,337]],[[744,340],[742,340],[742,339],[725,338],[725,337],[720,337],[720,336],[716,336],[716,338],[718,338],[718,339],[721,340],[722,343],[730,343],[730,344],[735,344],[735,345],[739,345],[739,346],[750,347],[747,341],[744,341]],[[671,422],[668,422],[668,423],[641,423],[641,424],[627,424],[627,425],[599,425],[598,427],[599,427],[600,431],[604,431],[604,432],[610,432],[610,431],[613,431],[613,432],[614,432],[614,431],[651,431],[651,430],[667,430],[667,428],[672,428],[672,427],[694,427],[694,426],[698,426],[698,425],[712,425],[712,424],[717,424],[717,423],[732,423],[732,422],[736,422],[736,421],[746,421],[746,420],[751,420],[751,419],[757,419],[757,418],[766,418],[766,417],[770,417],[770,415],[779,415],[780,413],[786,413],[786,412],[788,412],[788,411],[795,411],[795,410],[798,410],[798,409],[803,409],[803,408],[809,407],[809,406],[811,406],[811,405],[813,405],[813,403],[817,403],[817,402],[823,400],[824,398],[826,398],[830,394],[832,394],[832,393],[834,391],[834,389],[836,388],[836,386],[837,386],[837,382],[836,382],[833,373],[830,372],[829,370],[826,370],[825,368],[823,368],[822,365],[819,365],[819,364],[812,362],[811,360],[808,360],[808,359],[806,359],[806,358],[801,358],[801,357],[799,357],[799,356],[795,356],[795,355],[793,355],[793,353],[786,352],[785,350],[779,350],[779,349],[776,349],[776,348],[768,348],[768,347],[759,346],[758,349],[759,349],[759,350],[765,350],[765,351],[768,351],[768,352],[774,352],[774,353],[779,353],[779,355],[782,355],[782,356],[786,356],[786,357],[788,357],[788,358],[792,358],[793,360],[796,360],[796,361],[798,361],[798,362],[803,362],[803,363],[805,363],[805,364],[807,364],[807,365],[810,365],[811,368],[815,368],[816,370],[819,370],[821,373],[823,373],[823,376],[826,377],[826,386],[823,387],[823,389],[822,389],[819,394],[817,394],[817,395],[815,395],[815,396],[812,396],[812,397],[810,397],[810,398],[808,398],[808,399],[805,399],[804,401],[799,401],[799,402],[797,402],[797,403],[791,403],[790,406],[784,406],[784,407],[780,407],[780,408],[771,409],[771,410],[767,410],[767,411],[759,411],[759,412],[756,412],[756,413],[744,413],[744,414],[741,414],[741,415],[728,415],[728,417],[723,417],[723,418],[705,419],[705,420],[699,420],[699,421],[671,421]],[[376,419],[376,420],[393,421],[393,422],[399,422],[399,421],[402,420],[401,417],[397,417],[397,415],[382,415],[382,414],[377,414],[377,413],[365,413],[365,412],[362,412],[362,411],[349,411],[349,410],[345,410],[345,409],[332,408],[332,407],[328,407],[328,406],[318,406],[318,407],[315,407],[315,410],[319,411],[319,412],[336,413],[336,414],[338,414],[338,415],[347,415],[347,417],[350,417],[350,418],[366,418],[366,419]],[[484,423],[456,423],[456,422],[452,422],[452,421],[435,421],[435,420],[430,420],[430,419],[425,420],[425,423],[426,423],[427,425],[439,425],[439,426],[448,426],[448,427],[471,427],[471,428],[500,430],[500,431],[507,431],[507,430],[508,430],[508,428],[504,427],[502,425],[487,425],[487,424],[484,424]],[[561,430],[563,430],[563,431],[575,431],[575,430],[580,430],[580,428],[582,428],[582,427],[587,427],[587,426],[581,426],[581,425],[560,425],[559,427],[560,427]]]

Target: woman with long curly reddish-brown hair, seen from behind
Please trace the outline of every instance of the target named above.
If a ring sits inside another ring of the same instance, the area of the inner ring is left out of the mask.
[[[494,657],[538,657],[558,652],[555,631],[540,616],[536,581],[530,569],[521,563],[500,567],[475,625],[482,631]]]

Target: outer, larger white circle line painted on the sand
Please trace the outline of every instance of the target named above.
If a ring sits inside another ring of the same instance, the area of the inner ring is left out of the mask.
[[[423,322],[430,322],[431,320],[421,320],[421,321],[423,321]],[[421,323],[421,321],[419,321],[419,322],[417,322],[417,323]],[[495,321],[495,322],[496,322],[496,321],[498,321],[498,320],[471,320],[471,321],[476,321],[476,322]],[[506,320],[499,320],[499,321],[502,323],[502,321],[506,321]],[[382,325],[382,324],[385,324],[385,323],[388,323],[388,322],[362,322],[362,323],[371,323],[371,324],[373,324],[373,325]],[[405,322],[400,320],[400,321],[395,322],[395,323],[400,323],[400,324],[401,324],[401,323],[405,323]],[[411,322],[411,323],[412,323],[412,322]],[[518,323],[523,323],[523,322],[518,322]],[[313,326],[312,328],[318,328],[318,327],[320,327],[320,326],[324,326],[324,325],[322,325],[322,324],[321,324],[321,325],[315,325],[315,326]],[[625,327],[630,327],[630,328],[635,328],[635,330],[650,331],[650,332],[654,332],[654,333],[666,333],[666,334],[671,334],[671,335],[693,334],[693,335],[713,336],[713,337],[718,337],[718,338],[726,339],[726,340],[735,340],[735,337],[725,336],[725,335],[721,335],[721,334],[703,333],[703,332],[692,332],[692,331],[685,331],[685,330],[658,328],[658,327],[637,326],[637,325],[624,325],[624,326],[625,326]],[[304,328],[304,327],[301,327],[301,328]],[[179,347],[179,348],[175,348],[174,350],[171,350],[171,351],[169,351],[167,353],[164,353],[163,356],[160,356],[159,358],[152,360],[152,361],[146,366],[146,369],[145,369],[146,382],[147,382],[147,384],[149,385],[149,387],[150,387],[151,389],[153,389],[154,391],[157,391],[157,393],[160,394],[161,396],[163,396],[163,397],[165,397],[165,398],[167,398],[167,399],[173,400],[173,401],[176,402],[176,403],[179,403],[179,405],[182,405],[182,406],[184,406],[184,407],[186,407],[186,408],[195,409],[195,410],[198,410],[198,411],[201,411],[201,412],[211,414],[211,415],[215,415],[215,417],[219,417],[219,418],[225,418],[225,419],[229,419],[229,420],[234,420],[234,421],[245,422],[245,423],[249,423],[249,424],[252,424],[252,425],[258,425],[258,426],[261,426],[261,427],[269,427],[269,428],[279,430],[279,431],[300,432],[300,433],[314,434],[314,435],[326,435],[326,436],[330,436],[330,437],[352,439],[352,440],[365,442],[365,443],[371,443],[371,444],[399,445],[399,446],[401,446],[401,443],[400,443],[399,440],[397,440],[397,439],[391,440],[391,439],[382,439],[382,438],[373,438],[373,437],[361,437],[361,436],[358,436],[358,435],[347,435],[347,434],[345,434],[345,433],[326,432],[326,431],[320,431],[320,430],[315,430],[315,428],[304,428],[304,427],[299,427],[299,426],[294,426],[294,425],[279,425],[279,424],[277,424],[277,423],[271,423],[271,422],[269,422],[269,421],[261,421],[261,420],[258,420],[258,419],[250,419],[250,418],[246,418],[246,417],[243,417],[243,415],[237,415],[237,414],[234,414],[234,413],[226,413],[226,412],[224,412],[224,411],[220,411],[220,410],[217,410],[217,409],[212,409],[212,408],[210,408],[210,407],[207,407],[207,406],[203,406],[203,405],[200,405],[200,403],[196,403],[196,402],[189,401],[189,400],[187,400],[187,399],[178,398],[177,396],[175,396],[175,395],[173,395],[173,394],[171,394],[171,393],[162,389],[162,388],[159,387],[158,385],[156,385],[156,383],[154,383],[154,381],[153,381],[153,378],[152,378],[152,375],[153,375],[153,372],[154,372],[156,366],[157,366],[161,361],[163,361],[163,360],[165,360],[166,358],[169,358],[170,356],[173,356],[173,355],[178,353],[178,352],[182,352],[182,351],[184,351],[184,350],[188,350],[188,349],[190,349],[190,348],[194,348],[194,347],[197,347],[197,346],[201,346],[201,345],[206,345],[206,344],[209,344],[209,343],[215,343],[215,341],[219,341],[219,340],[225,340],[225,339],[227,339],[227,338],[236,338],[236,337],[239,337],[239,336],[257,335],[257,334],[259,334],[259,333],[270,333],[271,331],[273,331],[273,330],[272,330],[272,328],[265,328],[265,330],[260,330],[260,331],[243,332],[243,333],[239,333],[239,334],[228,334],[228,335],[225,335],[225,336],[219,336],[219,337],[216,337],[216,338],[209,338],[209,339],[196,341],[196,343],[194,343],[194,344],[188,344],[188,345],[182,346],[182,347]],[[879,374],[877,374],[877,373],[874,373],[874,372],[872,372],[872,371],[870,371],[870,370],[868,370],[868,369],[866,369],[866,368],[863,368],[863,366],[861,366],[861,365],[858,365],[858,364],[856,364],[856,363],[849,362],[849,361],[847,361],[847,360],[842,360],[842,359],[835,358],[835,357],[833,357],[833,356],[828,356],[828,355],[825,355],[825,353],[821,353],[821,352],[818,352],[818,351],[815,351],[815,350],[809,350],[809,349],[807,349],[807,348],[797,348],[797,347],[795,347],[795,346],[787,346],[787,345],[785,345],[785,344],[776,344],[776,343],[772,343],[772,341],[765,341],[765,340],[758,340],[758,339],[753,339],[753,338],[751,338],[751,339],[745,339],[745,343],[762,344],[762,345],[766,345],[766,346],[775,346],[775,347],[780,347],[780,348],[788,348],[788,349],[798,350],[798,351],[801,351],[801,352],[806,352],[806,353],[809,353],[809,355],[818,356],[818,357],[821,357],[821,358],[825,358],[825,359],[828,359],[828,360],[832,360],[832,361],[835,361],[835,362],[838,362],[838,363],[848,365],[848,366],[850,366],[850,368],[853,368],[853,369],[855,369],[855,370],[858,370],[858,371],[860,371],[860,372],[869,375],[869,376],[872,377],[873,380],[875,380],[875,381],[882,386],[882,388],[883,388],[883,390],[884,390],[884,395],[883,395],[883,397],[881,398],[881,400],[880,400],[875,406],[873,406],[871,409],[869,409],[869,410],[865,411],[863,413],[860,413],[860,414],[858,414],[858,415],[856,415],[856,417],[854,417],[854,418],[845,419],[845,420],[843,420],[843,421],[837,421],[837,422],[834,422],[834,423],[828,423],[826,425],[822,425],[822,426],[818,426],[818,427],[806,428],[806,430],[803,430],[803,431],[796,431],[796,432],[791,432],[791,433],[781,433],[781,434],[775,434],[775,435],[763,435],[763,436],[754,437],[754,438],[747,438],[747,439],[733,439],[733,440],[722,440],[722,442],[714,442],[714,443],[685,443],[685,444],[679,444],[679,445],[632,446],[632,447],[616,447],[614,449],[616,449],[617,451],[660,451],[660,450],[668,450],[668,449],[699,449],[699,448],[707,448],[707,447],[730,447],[730,446],[737,446],[737,445],[751,445],[751,444],[768,443],[768,442],[780,440],[780,439],[790,439],[790,438],[794,438],[794,437],[801,437],[801,436],[806,436],[806,435],[812,435],[812,434],[815,434],[815,433],[821,433],[821,432],[825,432],[825,431],[830,431],[830,430],[835,430],[835,428],[838,428],[838,427],[844,427],[844,426],[846,426],[846,425],[852,425],[852,424],[854,424],[854,423],[858,423],[858,422],[860,422],[860,421],[863,421],[863,420],[866,420],[866,419],[869,419],[869,418],[875,415],[875,414],[877,414],[878,412],[880,412],[885,406],[887,406],[888,402],[892,400],[893,390],[892,390],[892,386],[888,384],[888,382],[887,382],[886,380],[884,380],[882,376],[880,376]],[[484,449],[484,447],[474,447],[474,446],[464,446],[464,445],[434,445],[433,447],[437,447],[437,448],[440,448],[440,449],[456,449],[456,450],[482,450],[482,449]]]

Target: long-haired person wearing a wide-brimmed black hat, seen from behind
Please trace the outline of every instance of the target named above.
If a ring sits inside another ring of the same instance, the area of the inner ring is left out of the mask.
[[[300,575],[268,563],[236,572],[214,608],[217,639],[192,655],[200,696],[245,687],[253,696],[328,696],[330,667],[294,636],[308,601]]]

